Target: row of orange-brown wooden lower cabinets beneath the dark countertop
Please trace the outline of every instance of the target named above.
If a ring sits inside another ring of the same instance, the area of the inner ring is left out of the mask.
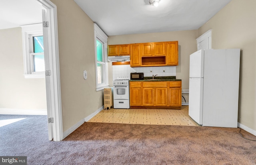
[[[131,81],[130,107],[180,109],[181,81]]]

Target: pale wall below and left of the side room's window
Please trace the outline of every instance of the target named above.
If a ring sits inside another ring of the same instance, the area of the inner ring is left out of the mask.
[[[0,108],[46,110],[45,79],[25,79],[21,28],[0,30]]]

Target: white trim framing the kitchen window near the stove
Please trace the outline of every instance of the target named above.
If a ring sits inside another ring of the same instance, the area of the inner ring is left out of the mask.
[[[96,39],[99,39],[103,42],[104,49],[104,61],[105,61],[105,67],[103,68],[103,79],[105,80],[104,83],[98,84],[98,75],[97,75],[97,45],[96,45]],[[97,24],[94,24],[94,50],[95,50],[95,76],[96,76],[96,91],[103,90],[104,88],[109,87],[108,84],[108,36],[98,27]]]

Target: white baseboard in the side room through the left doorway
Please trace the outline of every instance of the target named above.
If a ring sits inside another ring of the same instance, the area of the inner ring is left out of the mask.
[[[9,109],[0,108],[0,114],[9,115],[47,115],[47,110],[24,110],[24,109]]]

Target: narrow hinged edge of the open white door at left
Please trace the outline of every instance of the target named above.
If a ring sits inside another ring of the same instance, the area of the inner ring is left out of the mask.
[[[44,36],[44,63],[45,63],[45,81],[46,81],[46,100],[47,100],[47,116],[48,116],[48,136],[49,140],[53,139],[53,127],[52,127],[52,103],[51,103],[51,89],[50,89],[50,67],[49,67],[49,49],[48,49],[48,30],[47,25],[47,13],[46,10],[42,10],[43,20],[43,36]]]

